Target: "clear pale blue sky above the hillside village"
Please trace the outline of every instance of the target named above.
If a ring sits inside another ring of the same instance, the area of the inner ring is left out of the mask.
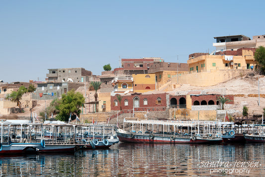
[[[265,34],[263,0],[1,0],[0,80],[45,81],[48,68],[101,75],[120,58],[186,63],[213,37]]]

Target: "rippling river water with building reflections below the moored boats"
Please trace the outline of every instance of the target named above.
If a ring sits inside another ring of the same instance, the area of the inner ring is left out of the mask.
[[[265,144],[125,144],[70,154],[1,156],[0,177],[262,177]]]

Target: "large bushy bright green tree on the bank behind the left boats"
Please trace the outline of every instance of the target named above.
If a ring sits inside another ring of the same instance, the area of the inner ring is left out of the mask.
[[[80,92],[71,90],[62,95],[62,99],[59,100],[56,109],[59,110],[59,114],[56,116],[57,120],[68,122],[70,115],[80,115],[80,108],[85,103],[85,98]]]

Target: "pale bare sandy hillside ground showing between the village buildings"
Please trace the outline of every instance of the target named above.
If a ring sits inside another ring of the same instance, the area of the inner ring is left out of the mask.
[[[260,77],[260,94],[265,94],[265,77],[264,76],[244,76],[243,78],[238,77],[235,79],[232,79],[230,81],[210,86],[210,87],[196,87],[196,86],[190,86],[188,84],[179,85],[177,89],[170,92],[173,95],[176,95],[177,93],[187,93],[188,91],[202,91],[204,93],[218,93],[220,90],[225,91],[226,94],[243,94],[243,97],[234,97],[234,105],[230,107],[230,109],[235,109],[242,111],[243,106],[247,106],[249,108],[249,113],[252,115],[255,112],[263,112],[263,108],[265,108],[265,98],[260,98],[261,106],[258,106],[258,97],[248,97],[248,94],[258,94],[259,93],[259,87],[258,87],[258,77]],[[94,93],[95,91],[88,91],[87,89],[87,99],[88,101],[94,101]],[[206,90],[206,91],[205,91]],[[83,93],[85,95],[85,87],[80,87],[77,91]],[[97,91],[98,93],[100,90]],[[163,93],[164,91],[151,91],[147,92],[145,94],[150,93]],[[89,95],[89,100],[88,100]],[[49,106],[50,101],[46,101],[46,106]],[[39,112],[45,110],[45,102],[43,100],[38,101],[38,104],[35,108],[33,108],[33,112],[36,112],[39,115]],[[23,114],[16,114],[17,116],[30,116],[30,111],[25,110],[26,112]]]

